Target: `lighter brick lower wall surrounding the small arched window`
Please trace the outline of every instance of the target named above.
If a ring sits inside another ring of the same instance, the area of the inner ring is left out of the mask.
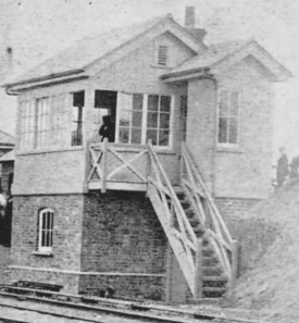
[[[38,212],[51,208],[53,257],[33,254],[38,246]],[[14,197],[12,264],[18,266],[79,270],[83,196]]]

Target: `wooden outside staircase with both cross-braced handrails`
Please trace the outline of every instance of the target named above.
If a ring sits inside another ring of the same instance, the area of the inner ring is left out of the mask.
[[[237,244],[216,209],[186,146],[175,192],[149,144],[148,196],[194,298],[216,298],[234,284]]]

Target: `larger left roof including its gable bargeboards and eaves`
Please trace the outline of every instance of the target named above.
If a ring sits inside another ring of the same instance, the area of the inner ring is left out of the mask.
[[[74,74],[92,75],[137,49],[149,39],[164,32],[172,33],[195,53],[205,46],[178,25],[171,15],[154,18],[142,24],[113,29],[100,36],[85,38],[58,55],[47,60],[21,76],[14,86]]]

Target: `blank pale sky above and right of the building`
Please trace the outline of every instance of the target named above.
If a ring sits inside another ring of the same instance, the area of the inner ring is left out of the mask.
[[[84,36],[172,13],[184,24],[196,7],[207,44],[253,37],[294,75],[276,85],[275,150],[299,153],[299,1],[296,0],[0,0],[0,55],[12,47],[26,70]],[[4,109],[0,105],[0,109]],[[0,123],[1,126],[1,123]]]

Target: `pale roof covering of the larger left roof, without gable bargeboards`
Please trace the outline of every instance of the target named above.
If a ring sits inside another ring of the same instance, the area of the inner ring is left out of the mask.
[[[61,51],[51,59],[42,62],[38,66],[32,69],[24,75],[17,77],[16,80],[11,82],[8,85],[14,85],[20,80],[22,80],[22,83],[25,83],[26,80],[38,79],[40,77],[53,76],[72,71],[82,73],[84,72],[84,69],[92,65],[99,59],[105,57],[107,54],[122,47],[129,40],[141,36],[144,33],[150,30],[155,25],[167,20],[173,21],[171,14],[155,17],[145,23],[115,28],[101,35],[86,37],[77,41],[73,46],[70,46],[65,50]],[[182,29],[184,28],[182,27]],[[199,38],[191,35],[191,33],[187,30],[184,32],[186,33],[186,35],[191,37],[195,42],[199,42]],[[201,30],[201,33],[203,32]]]

